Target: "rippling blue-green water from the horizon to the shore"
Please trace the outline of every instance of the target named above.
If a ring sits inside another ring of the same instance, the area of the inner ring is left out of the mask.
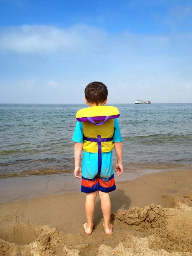
[[[192,103],[113,106],[120,111],[124,166],[192,165]],[[0,178],[72,172],[75,115],[84,107],[0,104]]]

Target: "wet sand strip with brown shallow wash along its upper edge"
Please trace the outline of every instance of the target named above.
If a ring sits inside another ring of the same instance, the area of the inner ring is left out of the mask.
[[[192,169],[172,163],[129,163],[124,164],[124,173],[115,180],[126,181],[149,173]],[[23,201],[43,196],[56,196],[80,191],[81,182],[74,178],[73,170],[36,170],[0,175],[0,204]]]

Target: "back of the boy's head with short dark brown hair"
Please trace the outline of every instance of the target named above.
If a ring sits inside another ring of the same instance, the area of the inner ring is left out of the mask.
[[[86,86],[84,93],[86,100],[89,103],[96,103],[97,106],[99,103],[103,103],[108,97],[107,86],[101,82],[89,83]]]

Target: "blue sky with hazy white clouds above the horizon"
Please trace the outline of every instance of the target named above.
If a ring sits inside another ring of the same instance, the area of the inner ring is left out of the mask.
[[[191,48],[191,0],[0,0],[0,103],[192,102]]]

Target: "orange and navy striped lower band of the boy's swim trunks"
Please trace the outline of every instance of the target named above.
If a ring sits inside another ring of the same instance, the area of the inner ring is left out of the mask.
[[[116,189],[114,174],[109,178],[103,178],[96,176],[94,179],[87,179],[82,176],[81,180],[81,192],[91,193],[97,190],[102,192],[111,192]]]

